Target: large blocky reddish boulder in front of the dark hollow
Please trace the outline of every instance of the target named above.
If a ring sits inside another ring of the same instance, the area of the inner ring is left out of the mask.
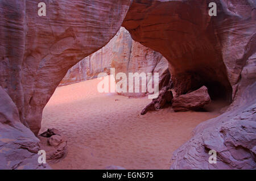
[[[205,104],[209,104],[210,101],[208,89],[203,86],[196,91],[174,98],[172,108],[174,111],[198,110],[199,108],[203,108]]]

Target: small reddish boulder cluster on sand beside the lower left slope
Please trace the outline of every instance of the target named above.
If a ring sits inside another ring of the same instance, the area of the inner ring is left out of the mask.
[[[57,129],[48,129],[40,134],[41,149],[46,151],[47,163],[57,163],[65,158],[68,151],[68,141]]]

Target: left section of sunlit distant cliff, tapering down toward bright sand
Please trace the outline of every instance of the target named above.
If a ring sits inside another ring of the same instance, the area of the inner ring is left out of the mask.
[[[111,66],[114,68],[116,66],[117,70],[122,71],[129,63],[132,42],[130,33],[121,27],[117,35],[105,47],[85,57],[69,69],[60,85],[97,78],[98,74],[102,72],[110,74]],[[119,62],[119,64],[115,64],[115,62]]]

